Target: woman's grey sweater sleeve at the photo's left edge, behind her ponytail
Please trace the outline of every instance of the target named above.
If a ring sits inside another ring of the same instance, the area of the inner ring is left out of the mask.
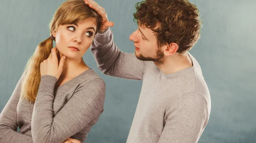
[[[17,104],[20,99],[22,78],[0,114],[0,143],[33,143],[32,137],[17,132]]]

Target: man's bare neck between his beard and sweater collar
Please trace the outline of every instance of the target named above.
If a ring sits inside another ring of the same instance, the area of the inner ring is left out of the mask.
[[[165,74],[175,73],[192,66],[192,60],[187,52],[183,54],[175,53],[172,56],[166,57],[163,64],[157,65],[157,67]]]

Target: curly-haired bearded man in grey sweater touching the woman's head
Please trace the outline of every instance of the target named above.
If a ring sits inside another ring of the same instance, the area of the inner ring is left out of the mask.
[[[142,80],[127,143],[197,143],[209,120],[211,101],[196,59],[188,52],[200,37],[198,9],[187,0],[137,3],[138,29],[130,40],[135,54],[113,42],[104,8],[84,0],[103,18],[91,45],[99,70],[109,76]]]

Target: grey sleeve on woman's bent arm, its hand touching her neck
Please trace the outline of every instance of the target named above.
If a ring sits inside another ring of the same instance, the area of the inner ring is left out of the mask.
[[[56,81],[54,76],[41,76],[32,113],[34,143],[62,143],[99,117],[103,110],[105,82],[102,79],[92,79],[89,84],[76,89],[69,101],[53,117],[52,103]]]

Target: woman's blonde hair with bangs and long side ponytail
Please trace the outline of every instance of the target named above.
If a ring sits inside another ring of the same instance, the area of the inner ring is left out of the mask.
[[[52,33],[57,30],[59,25],[79,23],[89,17],[96,19],[97,32],[101,26],[102,17],[86,5],[84,0],[67,0],[55,11],[49,26],[51,36],[38,44],[24,69],[21,98],[28,99],[32,103],[35,102],[41,81],[40,63],[49,57],[53,48],[53,40],[55,40]]]

